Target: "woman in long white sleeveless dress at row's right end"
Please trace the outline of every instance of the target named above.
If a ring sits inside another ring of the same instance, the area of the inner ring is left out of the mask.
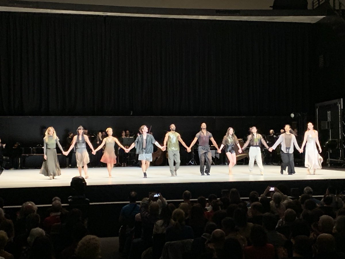
[[[305,144],[304,166],[307,167],[307,174],[310,174],[310,169],[313,169],[313,173],[315,174],[316,169],[322,168],[321,164],[323,159],[321,155],[319,155],[322,149],[319,142],[318,132],[314,130],[314,125],[311,122],[308,123],[308,129],[304,133],[304,141],[300,151],[301,153],[303,152]],[[316,145],[319,147],[319,152],[317,151]]]

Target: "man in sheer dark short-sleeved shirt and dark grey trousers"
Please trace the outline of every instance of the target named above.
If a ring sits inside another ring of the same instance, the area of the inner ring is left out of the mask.
[[[191,147],[196,143],[197,140],[199,141],[198,153],[199,153],[199,160],[200,160],[200,173],[201,175],[205,175],[205,173],[207,175],[210,175],[212,157],[211,157],[209,141],[212,141],[213,145],[217,148],[217,151],[219,151],[219,148],[212,134],[206,130],[206,123],[201,124],[201,131],[199,131],[195,135],[194,140],[192,141],[189,148],[187,149],[188,152],[190,152]],[[205,160],[206,160],[206,169],[204,173]]]

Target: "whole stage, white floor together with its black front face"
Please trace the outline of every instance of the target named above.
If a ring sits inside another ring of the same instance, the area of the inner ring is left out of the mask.
[[[233,167],[233,175],[228,175],[228,166],[211,166],[210,175],[200,175],[199,166],[180,166],[178,175],[172,177],[168,166],[152,166],[147,170],[148,178],[144,179],[140,167],[114,167],[112,178],[108,178],[106,167],[89,168],[87,197],[91,202],[125,202],[128,192],[135,190],[142,199],[150,191],[161,192],[169,200],[181,199],[183,191],[190,190],[193,198],[210,193],[220,195],[221,190],[237,188],[242,197],[248,197],[250,191],[262,193],[265,188],[284,183],[289,189],[298,188],[302,194],[305,186],[311,186],[314,194],[324,194],[328,185],[344,189],[345,171],[317,170],[316,174],[307,175],[305,168],[296,167],[296,174],[280,174],[280,166],[265,165],[265,174],[260,175],[254,166],[249,174],[248,165]],[[4,170],[0,175],[0,196],[8,205],[20,205],[32,200],[37,204],[49,204],[51,198],[60,196],[67,203],[71,195],[71,179],[79,175],[76,168],[61,169],[61,175],[50,180],[39,174],[39,170]],[[7,202],[7,203],[8,203]]]

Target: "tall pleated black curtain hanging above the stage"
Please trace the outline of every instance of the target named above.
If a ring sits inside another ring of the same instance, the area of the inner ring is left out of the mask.
[[[314,113],[309,23],[0,12],[0,32],[2,116]]]

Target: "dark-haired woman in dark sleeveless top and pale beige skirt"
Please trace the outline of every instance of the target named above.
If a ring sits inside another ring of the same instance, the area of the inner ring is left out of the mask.
[[[87,169],[88,169],[87,164],[90,163],[90,158],[89,158],[89,154],[87,153],[87,150],[86,150],[86,143],[88,143],[92,152],[94,150],[93,150],[93,146],[89,140],[89,137],[87,135],[84,135],[84,128],[82,126],[78,127],[77,133],[78,134],[73,137],[71,146],[69,147],[69,150],[66,153],[68,155],[68,153],[72,150],[74,145],[77,143],[76,160],[77,160],[79,175],[81,176],[81,169],[82,169],[82,167],[84,167],[85,179],[88,179],[89,176],[87,175]]]

